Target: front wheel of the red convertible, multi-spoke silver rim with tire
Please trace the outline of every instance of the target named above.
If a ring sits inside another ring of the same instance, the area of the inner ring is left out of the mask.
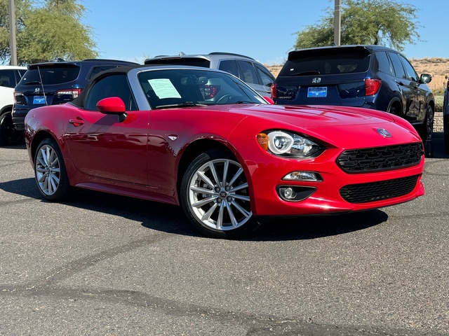
[[[189,221],[208,237],[242,237],[258,227],[245,173],[227,151],[208,151],[189,165],[180,200]]]

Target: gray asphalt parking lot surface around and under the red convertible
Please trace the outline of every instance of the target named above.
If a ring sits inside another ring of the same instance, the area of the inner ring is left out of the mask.
[[[395,207],[201,237],[178,207],[46,202],[0,148],[0,335],[448,335],[449,157]]]

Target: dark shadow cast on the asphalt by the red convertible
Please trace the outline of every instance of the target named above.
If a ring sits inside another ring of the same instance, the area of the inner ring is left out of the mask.
[[[41,196],[34,179],[20,179],[0,183],[0,190],[51,203]],[[18,201],[22,202],[22,201]],[[181,207],[151,202],[119,195],[79,190],[73,200],[63,202],[68,207],[101,212],[137,221],[151,230],[203,237],[185,217]],[[14,206],[14,205],[13,205]],[[25,206],[29,207],[29,206]],[[299,218],[274,218],[260,226],[259,230],[240,240],[282,241],[314,239],[363,230],[387,221],[387,214],[380,210],[363,211],[339,216],[308,216]]]

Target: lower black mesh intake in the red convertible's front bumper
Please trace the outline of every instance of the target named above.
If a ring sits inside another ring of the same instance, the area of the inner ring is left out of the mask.
[[[349,203],[368,203],[400,197],[415,189],[419,175],[380,182],[351,184],[340,189],[340,195]]]

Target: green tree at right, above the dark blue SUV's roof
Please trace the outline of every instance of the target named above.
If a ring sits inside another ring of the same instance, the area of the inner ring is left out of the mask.
[[[417,8],[394,0],[342,0],[341,44],[388,45],[403,51],[406,43],[420,41]],[[331,45],[334,39],[334,11],[317,25],[297,31],[295,49]]]

